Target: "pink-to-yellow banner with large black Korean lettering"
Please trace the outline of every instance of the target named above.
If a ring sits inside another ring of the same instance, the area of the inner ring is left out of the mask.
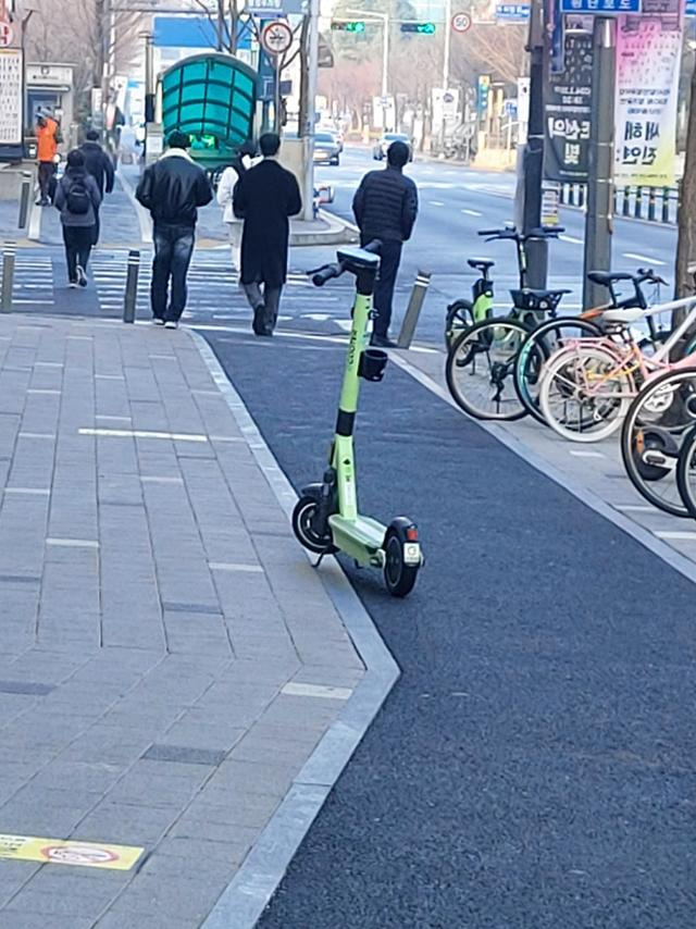
[[[674,16],[625,16],[617,29],[614,183],[674,184],[682,28]]]

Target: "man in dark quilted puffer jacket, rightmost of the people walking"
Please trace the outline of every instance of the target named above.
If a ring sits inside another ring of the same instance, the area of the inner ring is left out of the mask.
[[[418,190],[403,168],[410,158],[403,141],[393,141],[387,149],[387,166],[369,171],[360,182],[352,211],[360,227],[360,244],[382,241],[380,273],[374,288],[375,321],[372,344],[394,348],[389,338],[391,301],[403,243],[408,241],[418,215]]]

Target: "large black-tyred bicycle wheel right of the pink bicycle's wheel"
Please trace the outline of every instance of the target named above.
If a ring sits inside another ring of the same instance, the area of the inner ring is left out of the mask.
[[[649,381],[629,408],[621,457],[631,483],[672,516],[689,516],[678,483],[680,448],[696,425],[696,370],[668,371]]]

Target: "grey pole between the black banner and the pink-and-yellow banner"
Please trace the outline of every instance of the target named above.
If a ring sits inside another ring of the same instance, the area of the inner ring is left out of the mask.
[[[613,104],[617,72],[617,23],[597,16],[594,24],[592,76],[592,138],[585,215],[583,306],[596,307],[606,297],[604,287],[587,280],[589,271],[611,269],[613,232]]]

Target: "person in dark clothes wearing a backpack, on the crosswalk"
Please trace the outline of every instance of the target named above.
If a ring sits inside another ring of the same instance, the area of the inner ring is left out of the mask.
[[[67,156],[67,168],[55,186],[53,202],[61,213],[69,286],[86,287],[101,195],[79,149],[73,149]]]

